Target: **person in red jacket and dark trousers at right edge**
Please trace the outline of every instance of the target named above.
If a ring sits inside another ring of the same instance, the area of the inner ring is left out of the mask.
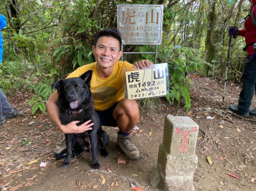
[[[247,51],[247,59],[241,77],[243,85],[239,94],[238,105],[229,105],[230,111],[242,117],[256,116],[256,109],[250,109],[251,100],[256,88],[256,0],[249,1],[252,3],[252,6],[250,7],[250,15],[245,20],[244,29],[239,30],[232,26],[228,30],[230,37],[236,38],[238,35],[245,37],[246,43],[243,50]]]

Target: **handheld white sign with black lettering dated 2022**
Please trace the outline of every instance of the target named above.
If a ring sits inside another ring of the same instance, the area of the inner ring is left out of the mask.
[[[169,93],[167,63],[155,64],[137,71],[126,71],[124,79],[125,97],[128,99],[163,97]]]

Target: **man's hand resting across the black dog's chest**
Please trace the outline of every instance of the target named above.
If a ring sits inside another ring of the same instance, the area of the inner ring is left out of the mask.
[[[62,133],[70,134],[70,133],[83,133],[84,131],[92,130],[91,126],[94,125],[94,123],[90,123],[92,120],[88,120],[84,122],[83,124],[77,126],[76,124],[80,121],[72,121],[68,123],[67,125],[61,125],[59,129]]]

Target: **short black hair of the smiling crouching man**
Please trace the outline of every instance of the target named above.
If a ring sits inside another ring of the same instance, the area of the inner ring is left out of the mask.
[[[119,42],[119,51],[121,51],[122,47],[122,38],[120,32],[116,28],[107,28],[103,29],[102,31],[99,31],[98,34],[96,34],[95,40],[94,40],[94,46],[96,47],[96,44],[98,43],[98,40],[100,37],[113,37]]]

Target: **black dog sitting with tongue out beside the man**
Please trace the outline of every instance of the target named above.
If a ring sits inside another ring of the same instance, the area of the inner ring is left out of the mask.
[[[82,151],[92,151],[93,169],[99,169],[97,151],[101,151],[103,157],[108,158],[106,146],[109,142],[108,134],[102,130],[99,116],[93,106],[90,91],[90,80],[92,70],[82,74],[80,77],[59,80],[52,84],[52,89],[58,90],[58,108],[60,120],[63,125],[79,120],[81,125],[87,120],[92,120],[92,130],[78,134],[65,134],[67,145],[67,156],[61,165],[66,168],[70,165],[71,157],[78,157]],[[72,151],[73,148],[73,151]]]

